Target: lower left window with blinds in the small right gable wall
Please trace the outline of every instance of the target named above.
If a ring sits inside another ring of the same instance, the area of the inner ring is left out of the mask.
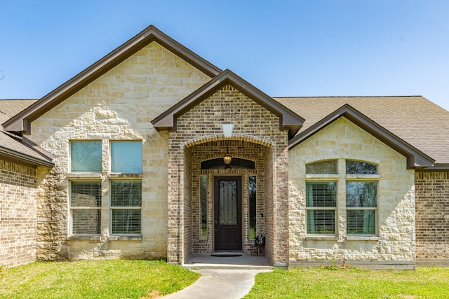
[[[306,209],[308,234],[335,235],[337,183],[306,183]]]

